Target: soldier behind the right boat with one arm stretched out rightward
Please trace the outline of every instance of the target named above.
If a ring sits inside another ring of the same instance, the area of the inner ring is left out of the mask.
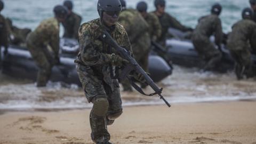
[[[166,35],[170,27],[183,32],[192,30],[191,28],[181,25],[177,19],[165,12],[165,0],[155,0],[155,7],[156,10],[153,13],[158,17],[162,26],[162,35],[157,42],[162,46],[165,47]]]

